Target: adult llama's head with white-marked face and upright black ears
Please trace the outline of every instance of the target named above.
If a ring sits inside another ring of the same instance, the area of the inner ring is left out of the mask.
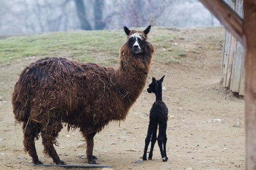
[[[147,39],[147,34],[150,31],[151,25],[149,25],[144,31],[135,31],[129,30],[127,27],[124,27],[124,32],[128,36],[128,44],[131,49],[131,52],[134,54],[143,53],[143,46]]]

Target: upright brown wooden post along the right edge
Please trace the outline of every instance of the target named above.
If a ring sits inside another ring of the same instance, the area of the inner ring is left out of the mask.
[[[244,0],[246,168],[256,169],[256,1]]]

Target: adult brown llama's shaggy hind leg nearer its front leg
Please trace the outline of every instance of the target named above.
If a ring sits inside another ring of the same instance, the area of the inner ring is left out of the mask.
[[[56,138],[59,135],[59,132],[62,129],[62,124],[50,124],[47,125],[47,128],[42,130],[42,142],[44,145],[44,154],[46,156],[50,156],[53,159],[53,162],[57,165],[65,165],[65,162],[60,160],[60,157],[58,156],[55,148],[53,147],[54,145],[58,146],[58,141]]]

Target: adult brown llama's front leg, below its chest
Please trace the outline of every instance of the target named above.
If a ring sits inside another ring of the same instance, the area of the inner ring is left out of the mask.
[[[98,164],[97,157],[93,156],[93,146],[94,146],[93,137],[95,134],[96,132],[93,132],[87,135],[86,137],[86,143],[87,143],[86,155],[87,155],[87,160],[89,164]]]

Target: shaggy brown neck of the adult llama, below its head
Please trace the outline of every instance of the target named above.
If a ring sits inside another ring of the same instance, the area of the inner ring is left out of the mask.
[[[116,79],[118,82],[118,92],[124,105],[121,119],[125,118],[129,108],[137,100],[145,87],[154,49],[148,43],[146,50],[147,53],[133,55],[127,44],[120,49],[120,61]]]

